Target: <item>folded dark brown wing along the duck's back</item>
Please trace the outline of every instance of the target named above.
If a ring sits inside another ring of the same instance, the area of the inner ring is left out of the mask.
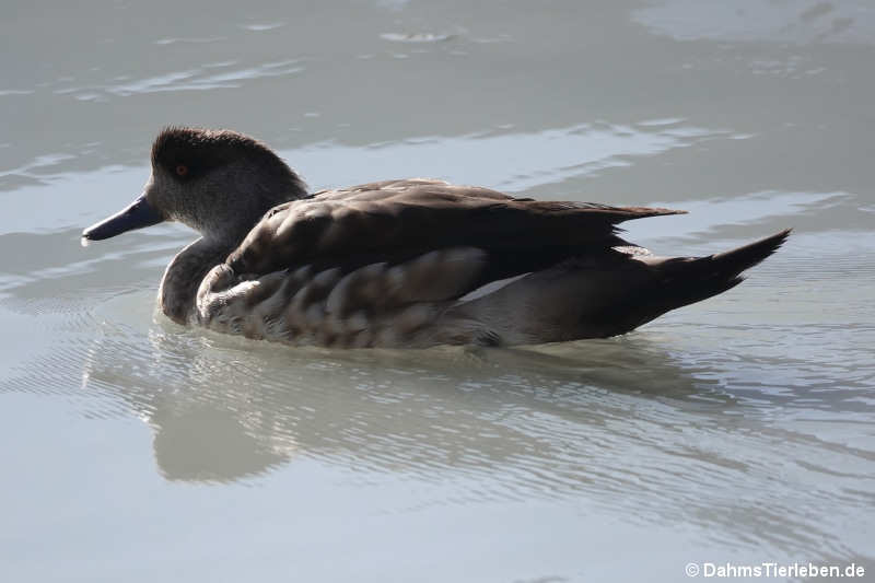
[[[349,272],[435,249],[476,248],[486,254],[479,277],[471,280],[476,287],[573,256],[618,255],[614,247],[630,245],[618,236],[618,223],[679,212],[513,198],[429,179],[387,180],[276,207],[226,265],[252,276],[304,265]]]

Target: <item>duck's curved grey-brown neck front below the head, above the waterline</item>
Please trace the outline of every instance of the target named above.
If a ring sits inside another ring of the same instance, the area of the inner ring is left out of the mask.
[[[223,263],[236,245],[201,237],[173,258],[161,279],[158,302],[161,311],[177,324],[188,324],[195,312],[195,296],[207,271]]]

